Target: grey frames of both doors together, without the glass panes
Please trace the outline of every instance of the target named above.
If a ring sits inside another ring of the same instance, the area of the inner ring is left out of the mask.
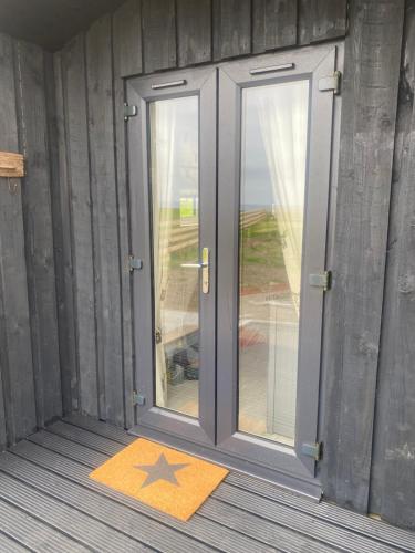
[[[343,44],[331,43],[135,77],[128,80],[126,86],[128,104],[138,107],[138,116],[131,118],[127,125],[127,142],[132,251],[143,259],[143,269],[132,276],[136,387],[146,398],[145,405],[136,408],[137,424],[131,432],[187,449],[314,498],[321,495],[315,461],[301,453],[301,445],[315,442],[319,434],[324,294],[310,288],[308,279],[309,274],[326,268],[330,186],[335,178],[331,175],[331,164],[336,166],[339,134],[338,128],[334,129],[333,113],[334,104],[338,113],[341,103],[341,97],[334,98],[333,92],[319,91],[319,80],[341,70],[342,62]],[[292,65],[274,73],[250,73],[252,69],[284,64]],[[237,427],[240,97],[245,86],[299,79],[310,81],[311,104],[295,447],[290,448],[239,432]],[[180,80],[186,84],[177,88],[152,88],[153,84]],[[204,368],[200,371],[199,420],[155,407],[153,324],[149,324],[153,285],[147,105],[152,100],[191,94],[200,97],[200,248],[206,246],[211,252],[210,293],[205,298],[200,294],[200,366]],[[338,117],[335,119],[338,126]]]

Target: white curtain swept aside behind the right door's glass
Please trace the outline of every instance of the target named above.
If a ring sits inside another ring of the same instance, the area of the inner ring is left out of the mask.
[[[256,88],[259,124],[272,180],[274,215],[291,296],[299,315],[304,206],[308,82]]]

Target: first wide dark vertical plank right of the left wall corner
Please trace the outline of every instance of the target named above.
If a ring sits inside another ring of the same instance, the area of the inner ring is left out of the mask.
[[[79,407],[98,414],[95,330],[94,237],[90,188],[90,154],[85,79],[85,40],[76,36],[62,52],[68,159],[68,200],[76,316]]]

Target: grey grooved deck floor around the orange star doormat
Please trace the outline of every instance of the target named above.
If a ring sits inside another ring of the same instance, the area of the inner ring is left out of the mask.
[[[72,417],[0,456],[0,551],[415,552],[415,534],[232,471],[184,523],[89,478],[134,438]]]

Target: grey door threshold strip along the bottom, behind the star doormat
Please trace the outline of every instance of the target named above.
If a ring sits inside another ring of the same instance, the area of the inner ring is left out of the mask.
[[[321,483],[317,479],[304,480],[278,470],[272,470],[261,465],[240,459],[237,456],[229,455],[227,451],[222,451],[215,446],[208,447],[206,445],[195,444],[179,436],[166,434],[144,425],[134,426],[128,430],[128,434],[131,436],[158,441],[165,446],[196,455],[207,461],[212,461],[222,467],[243,472],[250,477],[271,482],[293,493],[304,495],[317,503],[321,501],[323,495]]]

